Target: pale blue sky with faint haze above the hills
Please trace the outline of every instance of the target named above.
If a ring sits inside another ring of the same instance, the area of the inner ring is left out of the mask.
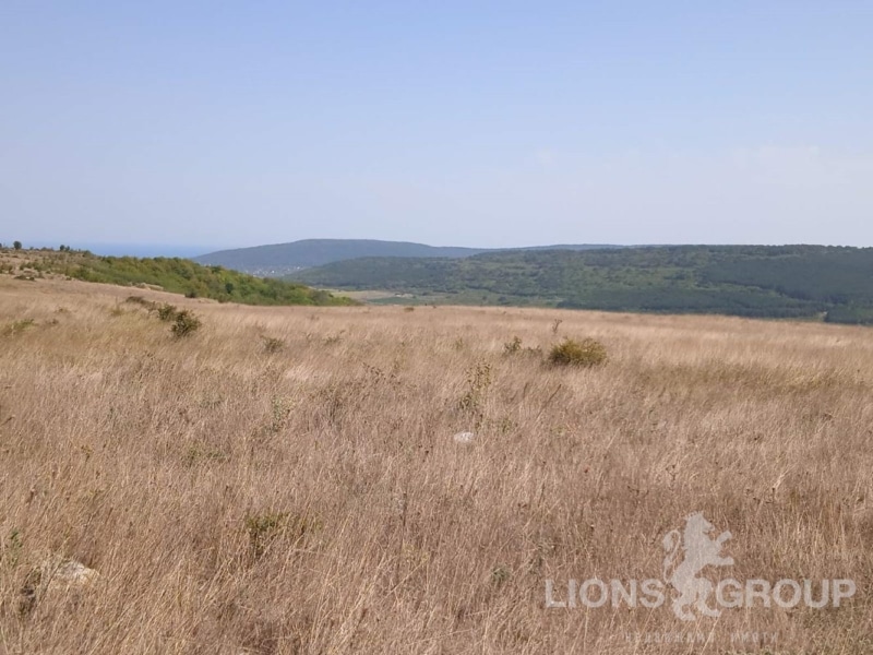
[[[873,246],[873,2],[0,3],[0,241]]]

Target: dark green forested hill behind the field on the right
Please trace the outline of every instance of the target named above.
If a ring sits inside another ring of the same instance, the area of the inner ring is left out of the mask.
[[[671,246],[504,251],[461,260],[367,258],[300,271],[294,278],[412,295],[422,302],[873,323],[871,248]]]

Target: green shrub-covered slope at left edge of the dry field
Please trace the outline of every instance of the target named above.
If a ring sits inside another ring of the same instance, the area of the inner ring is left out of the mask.
[[[15,273],[31,271],[120,285],[150,284],[167,291],[212,298],[220,302],[313,306],[354,303],[348,298],[335,297],[299,283],[264,279],[220,266],[202,266],[179,258],[117,258],[79,251],[40,250],[17,253],[5,251],[0,253],[0,259],[7,262],[8,271],[14,270]]]

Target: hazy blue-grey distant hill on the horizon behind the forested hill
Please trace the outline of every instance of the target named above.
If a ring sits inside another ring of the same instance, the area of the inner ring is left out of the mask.
[[[530,250],[562,248],[584,250],[590,248],[617,248],[615,246],[537,246]],[[291,243],[255,246],[211,252],[193,260],[201,264],[215,264],[243,271],[253,275],[279,276],[298,271],[322,266],[333,262],[362,257],[406,257],[459,259],[494,252],[489,248],[436,247],[406,241],[379,241],[374,239],[304,239]]]

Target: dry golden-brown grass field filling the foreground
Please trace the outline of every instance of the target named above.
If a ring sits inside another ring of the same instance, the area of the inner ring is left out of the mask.
[[[565,336],[608,362],[548,365]],[[0,275],[0,653],[872,653],[871,392],[869,329]],[[697,511],[732,534],[704,577],[857,593],[547,606],[659,579]],[[48,584],[52,558],[98,575]]]

